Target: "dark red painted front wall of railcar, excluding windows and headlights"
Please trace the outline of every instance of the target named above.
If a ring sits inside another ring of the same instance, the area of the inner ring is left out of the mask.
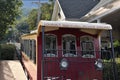
[[[61,28],[56,31],[46,32],[50,34],[55,34],[57,36],[58,49],[62,49],[62,35],[72,34],[76,36],[77,50],[80,50],[80,37],[83,35],[90,35],[88,33],[81,32],[79,29],[66,29]],[[99,41],[97,35],[90,35],[94,37],[95,50],[99,51]],[[41,80],[41,56],[42,56],[42,37],[41,34],[38,36],[38,54],[37,54],[37,80]],[[44,65],[44,76],[45,77],[59,77],[57,80],[92,80],[98,79],[102,80],[102,72],[97,71],[94,66],[95,60],[99,57],[99,53],[96,53],[96,58],[82,58],[82,57],[66,57],[69,62],[67,70],[61,70],[60,61],[63,58],[62,52],[58,52],[59,56],[55,58],[45,58]],[[78,52],[81,54],[81,52]]]

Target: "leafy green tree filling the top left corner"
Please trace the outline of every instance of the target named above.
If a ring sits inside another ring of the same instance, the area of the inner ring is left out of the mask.
[[[21,0],[0,0],[0,37],[12,25],[20,13]]]

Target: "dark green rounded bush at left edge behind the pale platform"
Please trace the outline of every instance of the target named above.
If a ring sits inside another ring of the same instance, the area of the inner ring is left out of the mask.
[[[0,45],[0,59],[1,60],[13,60],[16,52],[15,46],[12,44]]]

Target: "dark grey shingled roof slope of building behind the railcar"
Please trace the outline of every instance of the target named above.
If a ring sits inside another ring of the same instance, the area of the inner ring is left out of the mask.
[[[66,19],[80,19],[86,15],[100,0],[58,0]]]

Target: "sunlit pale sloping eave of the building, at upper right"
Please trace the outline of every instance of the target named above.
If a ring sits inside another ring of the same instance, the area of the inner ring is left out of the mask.
[[[107,0],[103,0],[102,4],[105,3]],[[87,15],[83,16],[80,21],[87,21],[87,22],[93,22],[98,19],[101,20],[101,22],[106,22],[109,24],[112,24],[112,26],[115,24],[118,25],[120,21],[120,0],[109,0],[109,3],[95,9],[91,10]]]

